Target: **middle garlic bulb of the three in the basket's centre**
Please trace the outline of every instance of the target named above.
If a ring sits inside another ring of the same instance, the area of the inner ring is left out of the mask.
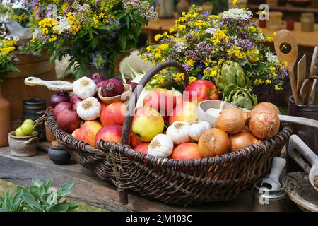
[[[187,121],[175,121],[168,127],[167,136],[169,136],[175,144],[189,142],[189,127],[190,124]]]

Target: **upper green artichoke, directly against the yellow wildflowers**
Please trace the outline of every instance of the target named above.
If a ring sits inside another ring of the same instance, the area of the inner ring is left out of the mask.
[[[220,75],[216,78],[216,85],[218,90],[223,92],[227,90],[228,85],[238,85],[239,87],[247,87],[249,77],[244,73],[242,66],[237,62],[226,61],[223,64]]]

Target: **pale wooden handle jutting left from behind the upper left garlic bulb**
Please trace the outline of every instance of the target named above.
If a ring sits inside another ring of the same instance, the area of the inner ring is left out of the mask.
[[[25,78],[24,80],[25,85],[30,85],[30,86],[34,86],[34,85],[44,85],[46,86],[49,90],[63,90],[66,92],[71,92],[73,91],[73,83],[70,83],[68,81],[45,81],[42,80],[40,78],[36,78],[36,77],[28,77]]]

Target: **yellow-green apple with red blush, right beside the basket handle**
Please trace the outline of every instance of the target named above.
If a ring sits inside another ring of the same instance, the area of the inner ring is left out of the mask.
[[[165,122],[159,112],[152,107],[139,107],[132,120],[131,130],[136,138],[149,142],[163,132],[164,126]]]

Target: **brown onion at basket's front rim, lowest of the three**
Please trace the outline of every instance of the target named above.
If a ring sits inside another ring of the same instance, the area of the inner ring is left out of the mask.
[[[228,153],[230,138],[224,131],[212,128],[200,136],[198,145],[201,157],[214,157]]]

